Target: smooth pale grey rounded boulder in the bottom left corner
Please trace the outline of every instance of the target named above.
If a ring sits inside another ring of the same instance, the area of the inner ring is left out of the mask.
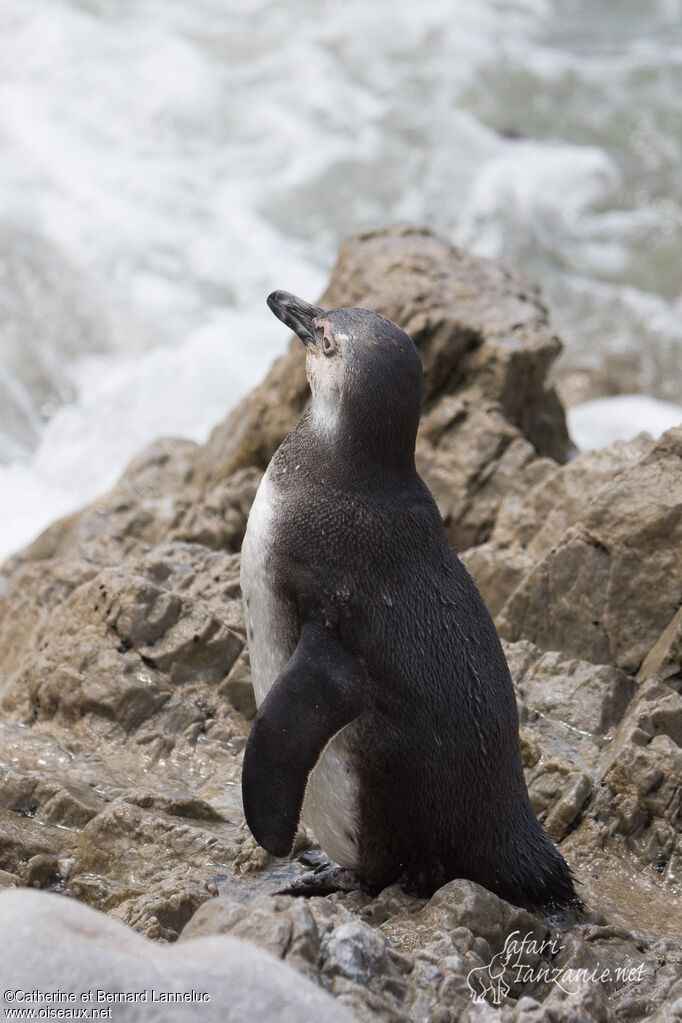
[[[53,1003],[32,992],[59,990],[73,1003],[56,1010],[111,1005],[124,1023],[171,1014],[201,1023],[353,1021],[328,994],[253,945],[224,936],[154,944],[73,899],[42,892],[2,891],[0,943],[5,1009],[40,1012]],[[169,1008],[178,1002],[181,1010]]]

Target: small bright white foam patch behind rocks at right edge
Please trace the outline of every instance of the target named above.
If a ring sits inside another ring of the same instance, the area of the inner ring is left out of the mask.
[[[566,419],[571,437],[585,451],[630,441],[641,433],[656,439],[672,427],[682,426],[682,405],[643,394],[619,394],[574,405]]]

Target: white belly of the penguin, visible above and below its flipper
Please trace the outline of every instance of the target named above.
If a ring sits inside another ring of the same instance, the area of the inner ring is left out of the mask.
[[[269,568],[277,494],[268,477],[266,473],[256,494],[241,546],[241,590],[259,707],[292,654],[283,625],[290,611],[275,591]],[[358,780],[350,764],[345,730],[327,743],[308,780],[303,818],[328,856],[342,866],[356,870]]]

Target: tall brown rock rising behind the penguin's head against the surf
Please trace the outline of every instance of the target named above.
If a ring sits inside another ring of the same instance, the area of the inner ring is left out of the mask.
[[[474,404],[497,404],[539,454],[566,457],[563,412],[547,381],[560,345],[537,288],[517,271],[453,249],[423,228],[388,227],[342,246],[320,305],[367,306],[404,327],[421,355],[426,409],[466,389]],[[308,395],[294,340],[214,431],[196,479],[206,488],[249,465],[265,469]]]

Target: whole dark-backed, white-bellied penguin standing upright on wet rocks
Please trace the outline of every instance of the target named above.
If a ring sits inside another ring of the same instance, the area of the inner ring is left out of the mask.
[[[333,861],[320,891],[467,878],[528,908],[580,906],[531,806],[493,620],[415,468],[416,346],[370,310],[268,305],[306,347],[312,401],[242,544],[248,828],[287,856],[304,819]]]

